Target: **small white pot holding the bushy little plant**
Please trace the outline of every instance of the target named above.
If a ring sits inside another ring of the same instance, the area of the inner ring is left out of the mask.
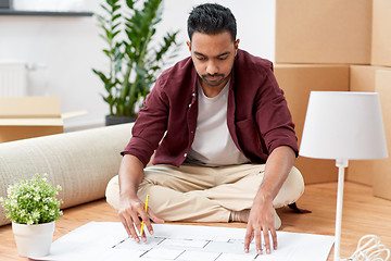
[[[12,222],[17,253],[27,258],[49,254],[53,239],[54,221],[50,223],[26,225]]]

